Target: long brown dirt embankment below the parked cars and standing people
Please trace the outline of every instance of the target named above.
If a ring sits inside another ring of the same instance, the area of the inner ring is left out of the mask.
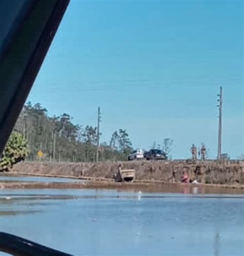
[[[16,164],[11,173],[112,181],[119,164],[22,162]],[[197,179],[201,183],[244,185],[243,161],[132,161],[121,164],[123,169],[135,169],[136,181],[180,182],[185,170],[191,180]]]

